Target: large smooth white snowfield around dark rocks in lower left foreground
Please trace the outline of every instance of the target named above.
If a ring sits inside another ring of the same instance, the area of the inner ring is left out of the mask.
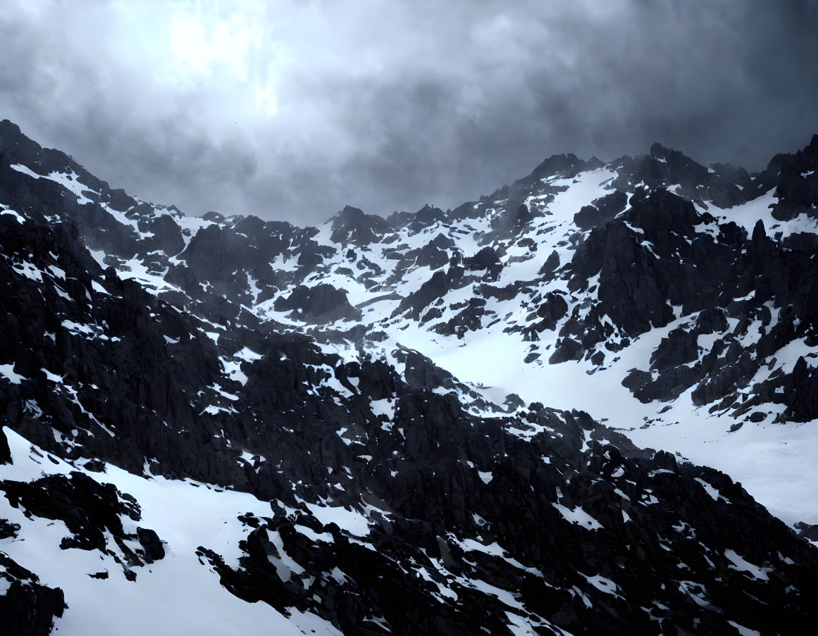
[[[340,634],[318,616],[293,611],[287,618],[266,603],[242,601],[224,589],[218,575],[196,556],[196,549],[202,545],[222,554],[227,563],[235,561],[238,542],[249,531],[236,517],[246,512],[269,515],[266,501],[191,480],[137,477],[112,464],[106,464],[106,472],[100,474],[66,464],[52,455],[52,461],[40,461],[29,452],[31,445],[25,438],[10,428],[2,430],[13,460],[11,466],[0,466],[2,479],[32,481],[44,474],[79,471],[101,483],[112,483],[121,492],[136,497],[142,507],[140,522],[122,517],[126,531],[135,531],[137,525],[148,527],[166,543],[165,557],[135,568],[137,580],[131,582],[108,555],[82,549],[61,550],[62,537],[70,535],[63,522],[29,519],[20,509],[12,508],[6,498],[0,498],[0,517],[20,524],[19,536],[0,540],[0,549],[22,567],[37,572],[42,584],[65,592],[70,610],[56,620],[59,634]],[[277,547],[284,553],[281,545]],[[99,571],[108,571],[110,577],[97,580],[88,576]]]

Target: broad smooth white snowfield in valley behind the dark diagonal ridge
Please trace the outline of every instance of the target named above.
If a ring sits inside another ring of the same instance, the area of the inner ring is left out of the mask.
[[[618,352],[618,361],[592,375],[587,372],[593,365],[587,361],[524,364],[529,343],[516,334],[502,334],[501,329],[467,332],[463,340],[456,340],[410,323],[398,334],[402,344],[430,356],[456,378],[478,387],[491,401],[501,404],[506,395],[516,393],[527,402],[540,401],[565,410],[581,408],[618,428],[637,446],[679,452],[695,464],[728,473],[784,522],[818,523],[818,502],[813,496],[813,485],[818,481],[815,423],[760,423],[731,433],[728,428],[734,420],[718,425],[720,419],[708,414],[708,406],[692,404],[690,390],[673,402],[643,404],[622,386],[627,371],[647,368],[661,339],[687,320],[689,317],[681,317],[640,335]],[[545,342],[545,338],[555,337],[553,332],[542,336]],[[803,349],[794,345],[775,356],[794,365],[801,352]],[[668,405],[670,410],[658,414]],[[655,422],[640,428],[647,420]]]

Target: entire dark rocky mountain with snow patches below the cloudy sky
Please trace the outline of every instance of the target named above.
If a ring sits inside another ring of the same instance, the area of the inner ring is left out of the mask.
[[[0,634],[798,633],[816,169],[555,155],[302,228],[0,123]]]

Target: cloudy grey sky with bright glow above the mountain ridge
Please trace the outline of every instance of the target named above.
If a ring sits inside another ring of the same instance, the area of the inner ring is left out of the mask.
[[[7,0],[0,119],[187,213],[454,207],[653,141],[760,169],[818,132],[811,0]]]

